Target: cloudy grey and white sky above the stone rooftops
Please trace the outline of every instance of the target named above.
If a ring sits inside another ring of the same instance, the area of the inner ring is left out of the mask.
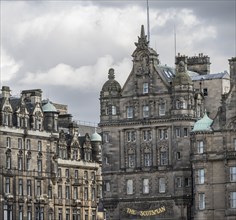
[[[74,120],[99,122],[99,94],[109,68],[124,84],[134,42],[145,25],[146,0],[0,1],[1,78],[12,95],[41,88],[68,105]],[[150,46],[161,64],[177,52],[206,54],[211,73],[236,56],[236,0],[149,0]]]

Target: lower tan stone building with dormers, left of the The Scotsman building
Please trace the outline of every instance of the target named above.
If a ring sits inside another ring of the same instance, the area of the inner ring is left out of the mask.
[[[101,136],[79,136],[66,106],[57,106],[63,111],[40,89],[14,98],[2,87],[0,219],[98,219]]]

